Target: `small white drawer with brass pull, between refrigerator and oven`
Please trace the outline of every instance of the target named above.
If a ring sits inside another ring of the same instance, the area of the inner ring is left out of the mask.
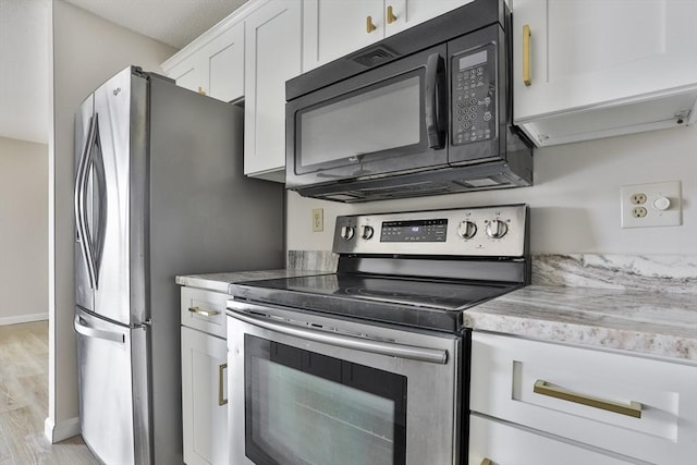
[[[227,339],[228,294],[182,287],[182,325]]]

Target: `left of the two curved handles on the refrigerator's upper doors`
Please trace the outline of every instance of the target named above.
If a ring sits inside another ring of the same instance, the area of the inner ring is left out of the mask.
[[[89,286],[97,289],[97,272],[95,269],[94,249],[91,235],[87,228],[87,182],[89,178],[89,164],[91,150],[95,145],[97,133],[97,115],[89,119],[89,130],[87,131],[87,140],[83,147],[83,154],[77,163],[77,176],[75,179],[75,223],[80,244],[83,250],[83,257],[87,264],[87,272],[89,276]]]

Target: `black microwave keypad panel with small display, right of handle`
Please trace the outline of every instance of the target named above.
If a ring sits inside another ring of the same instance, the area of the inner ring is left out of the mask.
[[[493,45],[452,57],[451,144],[488,140],[497,135],[497,75]]]

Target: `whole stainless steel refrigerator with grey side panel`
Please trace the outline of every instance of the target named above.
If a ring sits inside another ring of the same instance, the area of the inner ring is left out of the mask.
[[[130,66],[75,115],[80,420],[106,464],[182,463],[176,274],[284,264],[284,192],[243,110]],[[220,431],[223,433],[223,431]]]

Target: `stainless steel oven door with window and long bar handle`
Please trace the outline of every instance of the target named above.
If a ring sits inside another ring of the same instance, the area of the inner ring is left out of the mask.
[[[461,338],[228,308],[231,464],[460,463]]]

